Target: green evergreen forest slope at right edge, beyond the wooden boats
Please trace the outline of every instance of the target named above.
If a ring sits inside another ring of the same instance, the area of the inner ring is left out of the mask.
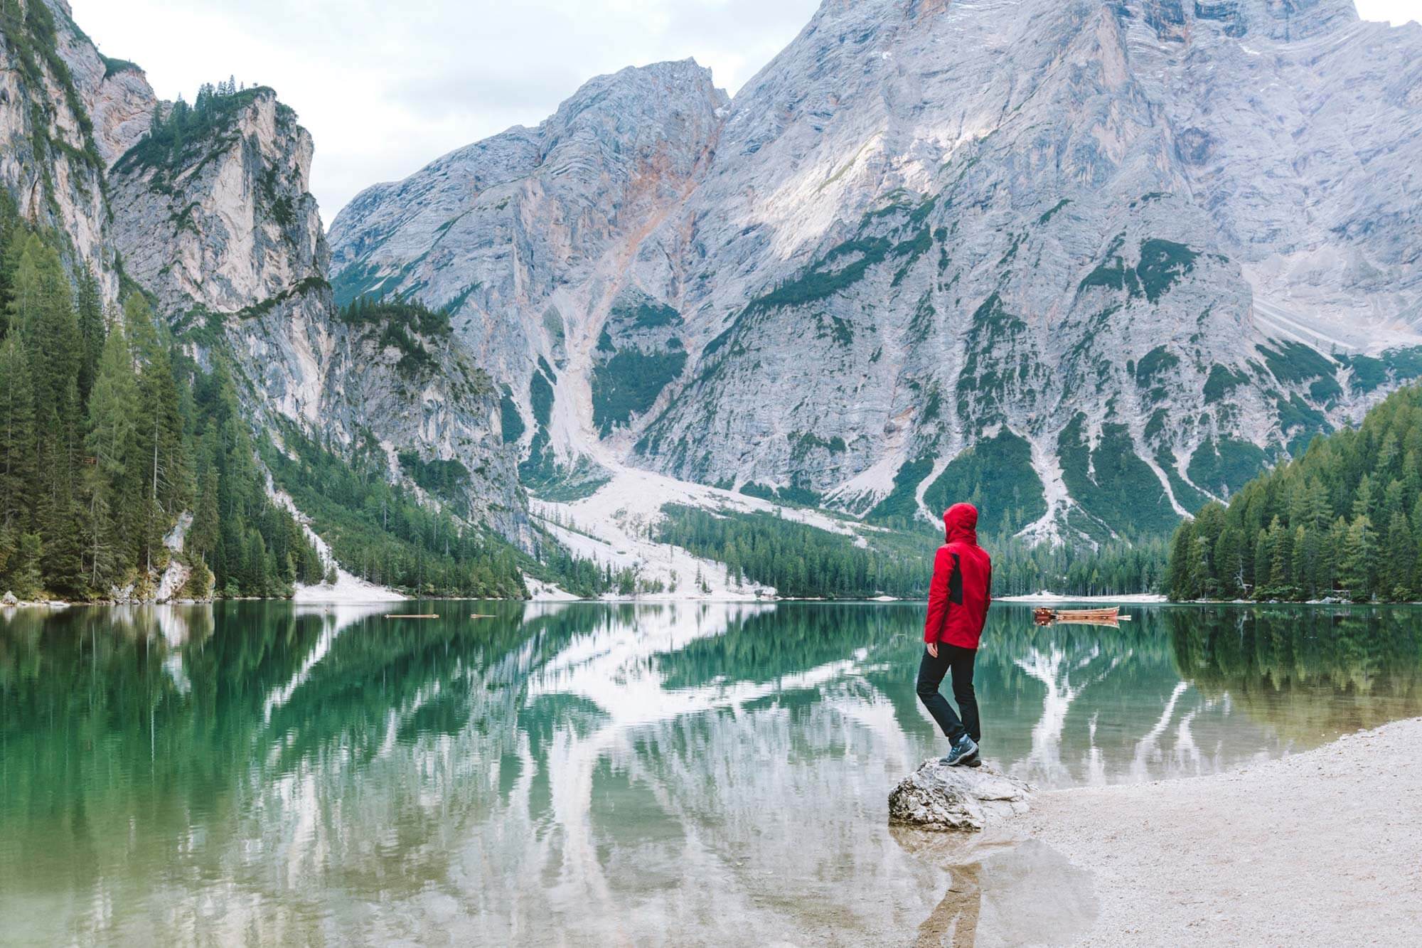
[[[1422,595],[1422,387],[1206,504],[1175,534],[1167,585],[1172,599]]]

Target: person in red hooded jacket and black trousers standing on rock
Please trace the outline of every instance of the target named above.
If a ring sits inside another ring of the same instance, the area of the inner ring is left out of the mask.
[[[993,602],[993,559],[977,545],[977,507],[954,504],[943,514],[944,542],[933,558],[929,615],[923,622],[927,648],[919,663],[919,700],[953,743],[943,762],[978,766],[977,695],[973,693],[973,660],[983,638],[983,621]],[[939,693],[943,676],[953,673],[953,705]]]

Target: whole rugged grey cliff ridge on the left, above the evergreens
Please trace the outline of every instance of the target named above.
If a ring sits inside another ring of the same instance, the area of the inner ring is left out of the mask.
[[[276,93],[223,85],[161,102],[64,0],[3,17],[0,184],[68,242],[71,266],[98,275],[108,305],[142,290],[199,360],[226,353],[277,443],[294,426],[338,451],[374,447],[421,495],[412,468],[455,465],[444,480],[456,490],[425,500],[526,545],[488,373],[444,344],[439,320],[336,307],[311,137]]]

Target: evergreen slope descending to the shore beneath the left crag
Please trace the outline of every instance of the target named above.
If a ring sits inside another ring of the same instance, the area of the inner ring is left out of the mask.
[[[374,438],[346,455],[292,426],[282,430],[282,450],[266,443],[263,460],[356,575],[414,595],[528,595],[520,567],[532,564],[502,538],[391,484],[385,451]]]

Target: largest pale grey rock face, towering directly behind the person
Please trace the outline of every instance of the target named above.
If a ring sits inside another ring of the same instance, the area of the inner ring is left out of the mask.
[[[725,329],[643,463],[893,517],[971,490],[951,458],[1005,437],[998,454],[1031,463],[995,468],[993,507],[1045,505],[1007,525],[1105,538],[1167,528],[1357,417],[1371,393],[1351,356],[1416,342],[1415,232],[1365,233],[1416,199],[1349,228],[1372,175],[1313,115],[1379,88],[1355,75],[1361,48],[1415,87],[1419,37],[1332,3],[1237,4],[1244,38],[1170,9],[826,3],[738,95],[688,202],[705,263],[684,286],[710,289],[681,309]],[[1285,122],[1290,90],[1317,101]],[[1352,141],[1405,181],[1416,115],[1384,108]],[[1294,255],[1340,263],[1266,276]]]

